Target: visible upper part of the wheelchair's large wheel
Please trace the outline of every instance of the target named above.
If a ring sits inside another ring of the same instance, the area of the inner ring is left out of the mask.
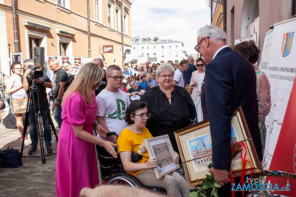
[[[139,182],[132,175],[127,173],[117,173],[115,174],[107,185],[128,185],[133,188],[143,187],[141,182]]]

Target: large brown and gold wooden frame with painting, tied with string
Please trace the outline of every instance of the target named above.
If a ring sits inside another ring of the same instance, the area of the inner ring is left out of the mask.
[[[206,174],[210,175],[207,166],[212,161],[210,121],[204,120],[175,131],[174,134],[188,185],[196,185],[197,179],[202,182]],[[231,118],[231,145],[237,141],[244,141],[246,144],[246,159],[252,163],[252,173],[262,172],[262,166],[241,107],[234,109]],[[250,162],[246,162],[245,175],[250,174]],[[234,177],[241,175],[241,169],[242,161],[237,155],[231,162]]]

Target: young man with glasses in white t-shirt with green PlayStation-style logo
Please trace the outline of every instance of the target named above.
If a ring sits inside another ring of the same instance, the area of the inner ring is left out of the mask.
[[[124,76],[122,70],[117,65],[111,65],[106,70],[107,87],[96,96],[98,109],[96,112],[97,121],[106,129],[107,132],[116,132],[118,135],[127,127],[124,120],[126,108],[131,101],[126,92],[119,90]],[[116,136],[102,138],[102,140],[117,143]],[[101,169],[102,185],[107,184],[114,171],[120,166],[116,159],[108,153],[104,147],[96,146]]]

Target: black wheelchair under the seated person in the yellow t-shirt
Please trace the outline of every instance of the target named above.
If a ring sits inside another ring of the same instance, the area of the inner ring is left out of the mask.
[[[118,135],[117,135],[116,132],[108,132],[107,133],[107,136],[111,136],[111,135],[115,135],[118,138]],[[98,146],[98,145],[96,145],[96,146]],[[98,149],[96,149],[96,150],[97,150],[97,153],[99,154]],[[126,173],[124,171],[124,169],[123,169],[123,165],[122,165],[122,162],[120,160],[119,153],[117,154],[117,158],[114,158],[114,159],[117,159],[118,164],[121,166],[121,169],[115,170],[113,176],[111,177],[111,179],[109,180],[107,185],[128,185],[128,186],[131,186],[133,188],[141,188],[141,187],[143,188],[144,187],[144,188],[147,188],[149,190],[152,190],[153,192],[160,192],[160,193],[163,193],[163,194],[167,194],[165,188],[154,187],[154,186],[146,186],[143,183],[141,183],[133,175],[130,175],[130,174]],[[131,161],[133,163],[138,162],[141,159],[142,159],[142,155],[132,152]]]

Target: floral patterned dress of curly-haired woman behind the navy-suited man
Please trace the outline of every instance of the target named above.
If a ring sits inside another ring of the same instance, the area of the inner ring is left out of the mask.
[[[271,98],[270,98],[270,83],[266,74],[260,70],[256,71],[257,77],[257,101],[258,101],[258,115],[259,115],[259,130],[261,137],[262,153],[264,155],[265,141],[266,141],[266,126],[265,117],[270,112]]]

